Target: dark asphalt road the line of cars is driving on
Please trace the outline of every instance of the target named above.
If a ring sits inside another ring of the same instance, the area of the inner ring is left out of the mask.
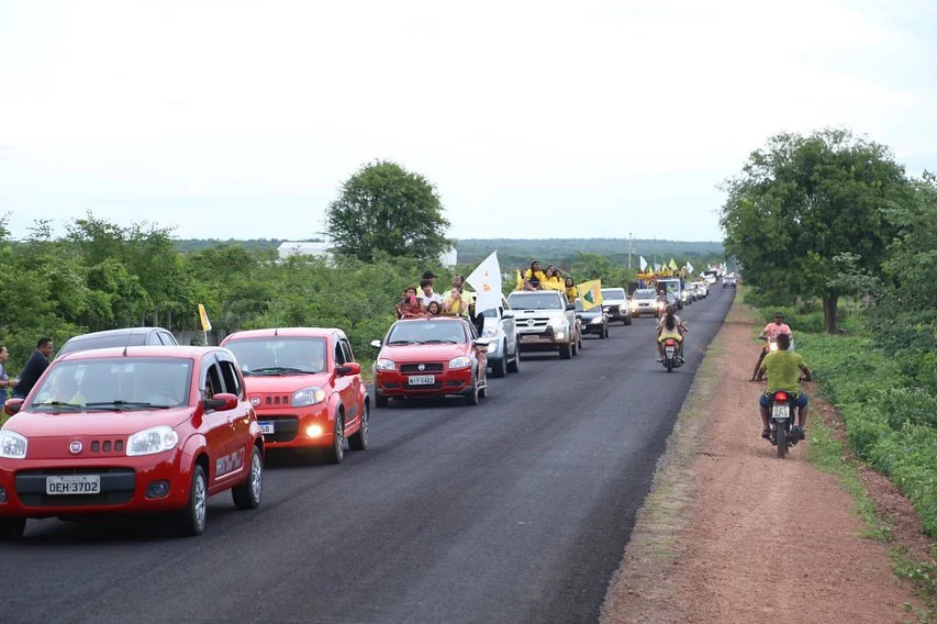
[[[734,289],[531,355],[490,398],[375,410],[338,466],[269,457],[264,503],[210,500],[205,535],[153,519],[30,521],[0,545],[0,622],[595,622],[636,510]]]

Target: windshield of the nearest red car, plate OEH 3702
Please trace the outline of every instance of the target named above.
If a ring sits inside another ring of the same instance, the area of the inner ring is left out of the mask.
[[[24,409],[34,412],[134,411],[189,403],[192,360],[116,357],[56,361]]]

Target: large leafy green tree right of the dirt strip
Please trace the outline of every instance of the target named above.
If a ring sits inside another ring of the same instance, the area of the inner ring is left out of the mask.
[[[880,274],[894,234],[888,211],[910,187],[888,147],[827,129],[771,137],[724,190],[725,248],[746,283],[822,298],[832,333],[840,294],[834,258],[848,252],[858,269]]]

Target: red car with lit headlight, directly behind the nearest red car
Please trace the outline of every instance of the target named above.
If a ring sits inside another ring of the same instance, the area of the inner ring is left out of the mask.
[[[368,447],[368,390],[341,330],[236,332],[222,346],[241,365],[267,448],[317,448],[338,464],[346,437]]]

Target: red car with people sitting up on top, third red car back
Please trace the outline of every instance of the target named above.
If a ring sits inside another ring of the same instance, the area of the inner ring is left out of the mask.
[[[391,325],[375,361],[375,405],[389,399],[465,397],[477,405],[488,391],[484,363],[479,365],[479,338],[475,325],[464,319],[406,319]]]

